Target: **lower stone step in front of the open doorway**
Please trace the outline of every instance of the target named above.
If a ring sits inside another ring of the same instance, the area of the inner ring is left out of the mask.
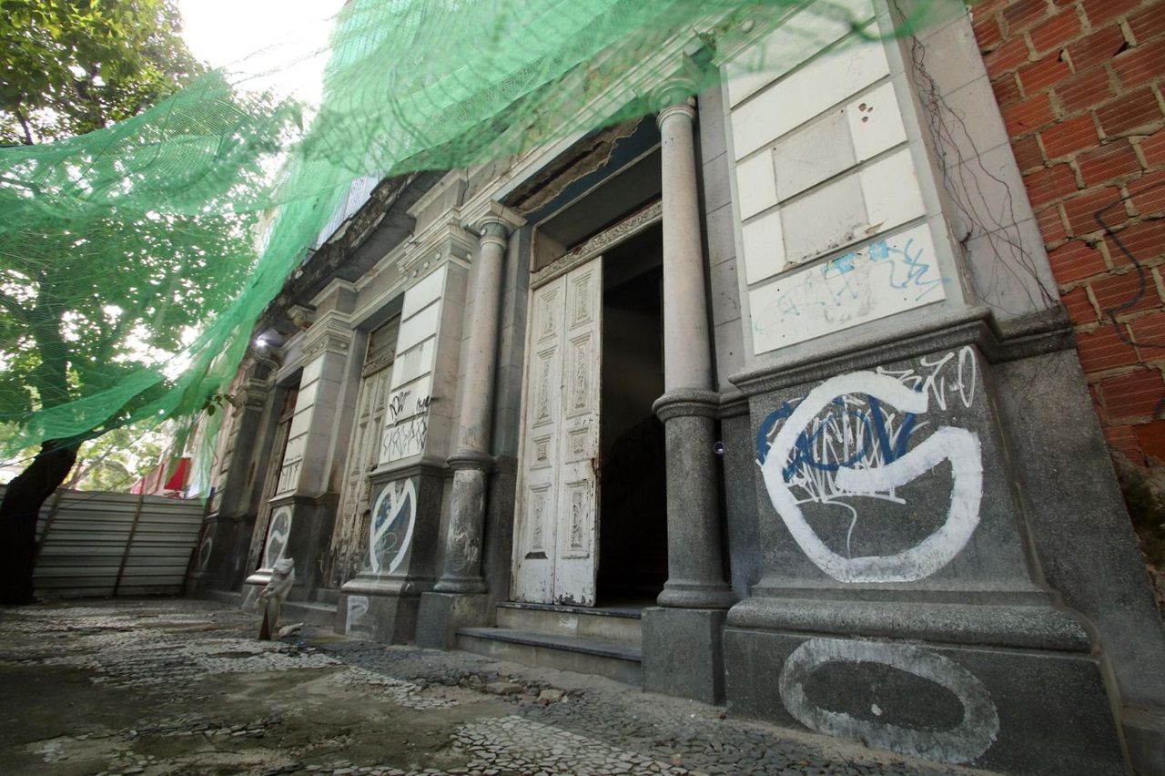
[[[617,641],[511,628],[461,628],[457,648],[523,665],[593,673],[636,686],[643,683],[643,651]]]

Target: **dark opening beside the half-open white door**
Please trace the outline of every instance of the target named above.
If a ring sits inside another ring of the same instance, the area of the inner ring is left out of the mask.
[[[658,226],[603,260],[598,606],[649,605],[668,578],[662,264]]]

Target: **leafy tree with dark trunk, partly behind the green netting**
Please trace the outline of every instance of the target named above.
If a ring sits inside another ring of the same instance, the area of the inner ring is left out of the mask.
[[[169,0],[0,0],[0,141],[31,146],[123,121],[203,71],[178,36]],[[198,127],[190,129],[197,135]],[[148,147],[148,142],[143,143]],[[3,151],[0,151],[3,153]],[[78,163],[79,161],[79,163]],[[7,204],[89,185],[99,158],[47,165],[35,191],[2,179]],[[126,167],[119,185],[148,185]],[[164,388],[163,372],[205,319],[203,289],[253,266],[247,225],[226,216],[107,207],[0,239],[0,400],[28,423],[118,381],[125,404],[93,411],[90,431],[49,438],[0,501],[0,602],[33,600],[36,516],[69,475],[78,446],[119,428]],[[19,212],[19,211],[16,211]],[[220,211],[221,212],[221,211]],[[108,295],[116,274],[119,295]],[[163,325],[158,325],[163,324]],[[153,386],[153,387],[151,387]]]

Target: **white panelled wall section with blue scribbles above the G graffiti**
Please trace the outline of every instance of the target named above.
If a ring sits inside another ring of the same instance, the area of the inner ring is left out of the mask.
[[[910,87],[887,45],[848,43],[725,87],[754,357],[948,297],[948,240],[927,207],[917,119],[899,107]]]

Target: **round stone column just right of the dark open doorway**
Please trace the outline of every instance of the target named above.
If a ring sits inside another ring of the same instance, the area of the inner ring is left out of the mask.
[[[715,417],[708,303],[697,191],[694,100],[672,92],[659,111],[663,163],[664,422],[668,463],[668,583],[661,606],[727,608],[720,559]]]

